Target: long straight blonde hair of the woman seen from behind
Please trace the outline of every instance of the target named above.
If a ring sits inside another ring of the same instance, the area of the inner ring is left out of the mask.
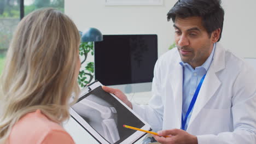
[[[57,123],[69,118],[69,99],[79,92],[79,43],[77,27],[58,10],[40,9],[20,21],[1,76],[0,143],[22,116],[37,109]]]

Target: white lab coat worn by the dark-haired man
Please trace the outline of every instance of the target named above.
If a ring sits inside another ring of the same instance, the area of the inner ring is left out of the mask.
[[[242,49],[242,48],[241,48]],[[183,70],[177,49],[155,64],[149,105],[133,105],[154,131],[181,128]],[[217,43],[187,128],[199,144],[256,143],[256,72]]]

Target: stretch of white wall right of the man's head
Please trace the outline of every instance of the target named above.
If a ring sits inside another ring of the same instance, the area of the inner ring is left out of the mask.
[[[221,43],[240,57],[256,58],[255,5],[255,0],[223,0],[225,20]]]

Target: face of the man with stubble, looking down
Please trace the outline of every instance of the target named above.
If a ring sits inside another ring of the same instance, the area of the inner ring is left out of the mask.
[[[201,17],[188,17],[181,19],[176,17],[174,25],[175,42],[179,55],[185,63],[193,68],[202,65],[210,56],[213,44],[216,41],[209,37],[202,26]]]

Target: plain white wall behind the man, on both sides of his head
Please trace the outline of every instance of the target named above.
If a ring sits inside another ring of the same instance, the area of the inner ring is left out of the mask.
[[[105,0],[65,0],[65,13],[80,31],[88,27],[103,34],[158,34],[159,56],[173,43],[173,23],[166,14],[176,0],[164,0],[162,6],[105,6]],[[238,56],[256,58],[255,0],[223,0],[225,20],[224,47]]]

